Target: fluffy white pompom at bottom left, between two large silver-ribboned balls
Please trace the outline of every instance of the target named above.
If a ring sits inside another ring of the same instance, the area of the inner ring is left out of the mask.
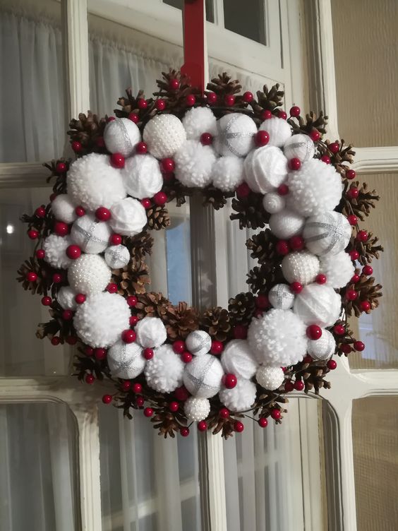
[[[182,385],[184,363],[171,345],[162,345],[145,365],[147,385],[159,393],[171,393]]]

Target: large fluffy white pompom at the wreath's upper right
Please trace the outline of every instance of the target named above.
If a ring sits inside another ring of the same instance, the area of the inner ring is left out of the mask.
[[[342,178],[330,164],[311,159],[289,173],[287,205],[308,217],[333,210],[342,198]]]

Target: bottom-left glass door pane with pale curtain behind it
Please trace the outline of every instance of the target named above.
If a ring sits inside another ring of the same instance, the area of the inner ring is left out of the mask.
[[[1,529],[81,529],[76,438],[64,404],[0,405]]]

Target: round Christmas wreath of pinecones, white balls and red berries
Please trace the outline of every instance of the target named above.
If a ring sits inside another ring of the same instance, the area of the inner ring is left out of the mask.
[[[202,93],[178,71],[157,85],[127,90],[115,117],[71,121],[76,160],[46,165],[54,192],[23,216],[36,246],[18,280],[49,307],[37,337],[76,345],[81,381],[114,383],[104,403],[143,410],[164,436],[196,422],[227,438],[243,417],[282,422],[292,390],[329,388],[334,354],[363,350],[347,318],[381,296],[382,247],[358,225],[378,195],[355,180],[351,145],[322,140],[322,112],[287,117],[279,85],[241,94],[224,73]],[[145,290],[150,232],[193,193],[207,208],[232,198],[231,220],[260,229],[250,291],[203,314]]]

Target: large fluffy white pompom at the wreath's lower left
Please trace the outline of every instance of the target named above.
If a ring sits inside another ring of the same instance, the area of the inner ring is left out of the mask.
[[[117,293],[97,293],[78,306],[73,325],[79,338],[87,345],[107,348],[120,339],[123,330],[129,328],[130,316],[124,297]]]

